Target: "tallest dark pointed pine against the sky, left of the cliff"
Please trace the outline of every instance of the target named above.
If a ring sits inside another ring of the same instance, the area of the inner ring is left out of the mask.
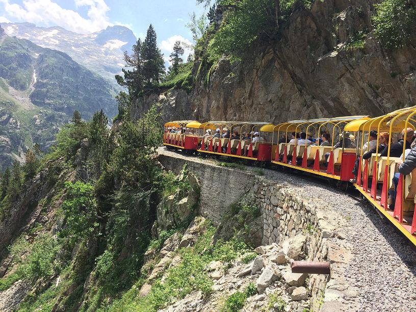
[[[143,59],[145,86],[158,86],[161,74],[165,73],[165,62],[163,61],[163,54],[158,48],[156,32],[151,24],[142,44],[141,57]]]

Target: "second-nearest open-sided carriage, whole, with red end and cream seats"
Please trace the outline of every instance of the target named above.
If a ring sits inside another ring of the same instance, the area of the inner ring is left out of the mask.
[[[344,131],[344,127],[355,120],[367,119],[368,116],[345,116],[292,120],[278,124],[273,129],[272,163],[348,181],[353,177],[357,140],[354,134]],[[292,133],[300,132],[316,137],[316,145],[308,145],[306,142],[298,144],[297,139],[290,140]],[[319,137],[324,132],[329,135],[329,146],[319,144]]]

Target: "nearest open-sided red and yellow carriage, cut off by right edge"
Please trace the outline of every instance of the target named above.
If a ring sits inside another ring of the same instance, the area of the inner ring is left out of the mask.
[[[391,154],[392,144],[398,142],[403,131],[407,128],[416,128],[416,107],[404,108],[395,112],[369,119],[356,124],[354,130],[359,133],[361,144],[357,148],[359,155],[358,175],[355,183],[357,190],[371,202],[389,221],[391,221],[404,235],[416,245],[416,216],[415,195],[416,195],[416,169],[410,174],[399,175],[395,202],[388,202],[388,196],[394,194],[393,177],[398,174],[398,168],[403,162],[406,144],[403,144],[401,157],[393,157]],[[352,126],[347,126],[352,130]],[[377,138],[376,152],[371,154],[367,160],[363,159],[361,146],[370,142],[370,131],[388,133],[389,141],[387,154],[381,156],[379,149],[379,136]],[[408,139],[407,131],[404,131],[404,142]],[[409,141],[409,140],[408,140]],[[410,144],[410,142],[408,142]],[[394,210],[389,206],[394,205]]]

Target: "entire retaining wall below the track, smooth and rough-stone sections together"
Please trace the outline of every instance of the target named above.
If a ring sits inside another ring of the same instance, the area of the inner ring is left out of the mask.
[[[160,162],[167,170],[180,173],[185,163],[190,172],[199,179],[201,185],[200,213],[217,224],[227,212],[227,207],[250,192],[261,208],[263,219],[262,244],[270,245],[294,236],[305,236],[304,258],[308,261],[329,261],[331,277],[310,275],[311,310],[332,311],[342,294],[334,297],[333,289],[326,291],[327,284],[342,284],[342,272],[336,262],[340,259],[340,232],[343,222],[324,200],[303,199],[303,189],[288,184],[279,184],[263,176],[247,171],[224,168],[185,158],[175,158],[161,154]],[[341,236],[341,240],[343,240]],[[341,258],[344,255],[341,255]],[[339,272],[340,271],[340,272]],[[330,279],[330,282],[327,281]],[[328,296],[327,296],[328,294]]]

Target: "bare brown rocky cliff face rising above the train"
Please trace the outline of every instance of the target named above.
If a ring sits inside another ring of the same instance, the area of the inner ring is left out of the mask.
[[[209,82],[206,73],[200,74],[187,97],[177,97],[178,91],[165,94],[170,98],[164,102],[166,115],[170,120],[278,123],[376,116],[415,105],[416,37],[402,49],[384,49],[372,34],[377,2],[316,1],[310,10],[295,10],[274,46],[256,42],[241,62],[220,60]],[[356,47],[352,42],[360,32],[366,34],[364,44]],[[197,59],[194,74],[199,65]],[[136,114],[139,107],[133,108]],[[175,118],[179,112],[183,115]]]

